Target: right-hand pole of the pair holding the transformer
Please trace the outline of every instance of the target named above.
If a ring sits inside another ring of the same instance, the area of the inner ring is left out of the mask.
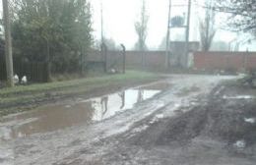
[[[191,13],[191,0],[188,0],[188,12],[187,12],[187,27],[186,27],[186,46],[185,46],[185,55],[184,55],[184,67],[188,65],[188,56],[189,56],[189,29],[190,29],[190,13]]]

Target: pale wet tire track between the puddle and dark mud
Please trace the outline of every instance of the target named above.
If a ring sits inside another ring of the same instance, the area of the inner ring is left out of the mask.
[[[183,104],[188,110],[189,102],[200,94],[208,94],[221,81],[229,79],[211,76],[172,76],[168,82],[173,87],[160,93],[153,99],[138,104],[135,108],[120,113],[112,118],[91,126],[77,126],[48,134],[38,134],[29,138],[15,140],[15,163],[19,164],[83,164],[90,159],[90,152],[98,156],[111,150],[103,139],[114,140],[115,136],[128,133],[129,130],[141,130],[141,122],[153,120],[152,117],[162,114],[163,117],[173,115],[174,111]],[[184,88],[198,87],[196,91],[188,91],[179,95]],[[167,108],[165,108],[167,106]],[[156,115],[155,115],[156,114]],[[160,116],[159,116],[160,117]],[[161,117],[160,119],[161,120]],[[138,124],[138,126],[136,126]],[[136,131],[134,134],[137,134]],[[95,144],[98,144],[96,146]],[[29,146],[26,148],[26,146]],[[113,147],[114,148],[114,147]],[[23,153],[19,153],[23,150]],[[101,152],[101,153],[100,153]],[[89,155],[87,157],[87,155]],[[93,158],[95,157],[93,156]],[[91,157],[92,158],[92,157]],[[89,162],[89,161],[88,161]]]

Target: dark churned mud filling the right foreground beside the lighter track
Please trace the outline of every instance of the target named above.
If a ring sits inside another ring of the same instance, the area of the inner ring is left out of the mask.
[[[164,118],[133,137],[128,137],[130,133],[117,136],[117,144],[106,139],[114,149],[94,159],[97,164],[116,165],[254,165],[256,101],[252,89],[243,90],[250,97],[242,97],[240,91],[239,86],[235,90],[235,86],[220,85],[188,112]],[[224,99],[231,93],[238,99]]]

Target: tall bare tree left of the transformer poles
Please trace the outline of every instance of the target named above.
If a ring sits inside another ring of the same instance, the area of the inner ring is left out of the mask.
[[[138,35],[138,41],[135,45],[135,48],[137,50],[146,50],[147,45],[146,45],[146,39],[148,35],[148,22],[149,22],[149,16],[147,15],[147,10],[146,10],[146,1],[142,0],[142,8],[141,8],[141,14],[140,14],[140,19],[138,22],[135,23],[135,30]]]

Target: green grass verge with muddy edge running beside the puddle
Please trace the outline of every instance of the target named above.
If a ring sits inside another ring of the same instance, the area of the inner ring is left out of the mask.
[[[156,74],[128,71],[125,75],[105,75],[66,82],[37,83],[15,86],[13,88],[2,88],[0,89],[0,116],[31,109],[38,102],[47,101],[49,95],[62,98],[79,94],[92,94],[98,88],[107,88],[115,85],[127,86],[131,83],[146,83],[159,78]]]

